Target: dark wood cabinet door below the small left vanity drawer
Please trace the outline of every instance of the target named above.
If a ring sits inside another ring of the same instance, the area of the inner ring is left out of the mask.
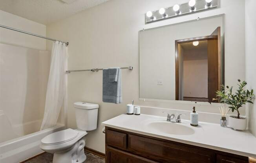
[[[106,147],[106,163],[157,163],[112,147]]]

